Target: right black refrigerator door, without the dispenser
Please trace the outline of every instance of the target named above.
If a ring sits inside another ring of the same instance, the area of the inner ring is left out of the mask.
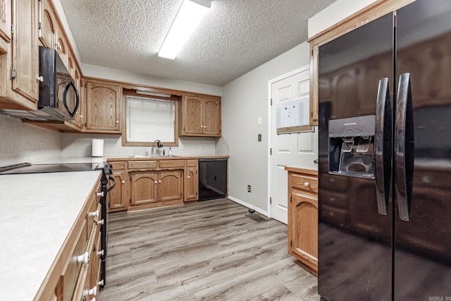
[[[417,0],[397,11],[396,73],[410,73],[406,150],[413,163],[406,164],[409,221],[394,215],[394,300],[451,300],[450,16],[447,0]]]

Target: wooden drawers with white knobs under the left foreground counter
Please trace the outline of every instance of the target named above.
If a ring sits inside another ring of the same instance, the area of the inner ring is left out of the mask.
[[[100,279],[100,177],[56,256],[35,301],[95,300]]]

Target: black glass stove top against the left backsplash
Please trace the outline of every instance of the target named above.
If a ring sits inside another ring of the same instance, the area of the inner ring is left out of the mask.
[[[18,173],[61,173],[66,171],[100,170],[104,164],[99,163],[66,163],[66,164],[16,164],[0,167],[0,174]]]

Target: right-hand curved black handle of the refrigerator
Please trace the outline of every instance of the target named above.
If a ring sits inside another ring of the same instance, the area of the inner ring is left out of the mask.
[[[406,147],[407,110],[409,107],[412,108],[410,73],[403,73],[400,75],[397,90],[395,124],[395,197],[402,221],[409,221],[410,218],[410,196],[407,183],[409,149]]]

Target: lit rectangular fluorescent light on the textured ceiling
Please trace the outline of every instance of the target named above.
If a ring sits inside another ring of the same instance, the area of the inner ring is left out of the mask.
[[[210,7],[207,0],[183,0],[158,56],[175,59]]]

